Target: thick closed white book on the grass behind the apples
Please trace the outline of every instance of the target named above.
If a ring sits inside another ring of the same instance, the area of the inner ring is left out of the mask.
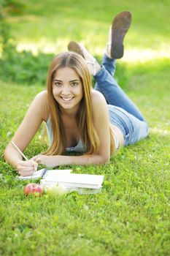
[[[47,186],[58,184],[58,186],[68,188],[82,187],[88,189],[100,189],[103,181],[104,176],[101,175],[67,173],[53,176],[50,173],[49,175],[44,176],[44,180],[42,182]]]

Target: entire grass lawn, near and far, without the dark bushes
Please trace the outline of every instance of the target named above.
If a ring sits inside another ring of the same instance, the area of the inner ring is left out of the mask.
[[[43,54],[45,43],[53,52],[77,39],[101,59],[112,16],[133,12],[125,39],[128,53],[118,63],[117,80],[144,113],[150,135],[122,148],[107,165],[65,166],[74,173],[103,174],[100,194],[26,197],[28,181],[18,181],[2,154],[44,84],[0,80],[0,255],[170,255],[168,1],[23,2],[23,15],[7,19],[12,35],[19,46],[31,45]],[[152,53],[146,59],[145,49]],[[39,140],[42,129],[25,151],[28,158],[47,146]]]

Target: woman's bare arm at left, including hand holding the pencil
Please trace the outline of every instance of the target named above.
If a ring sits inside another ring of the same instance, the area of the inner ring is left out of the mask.
[[[15,132],[12,141],[24,151],[31,139],[34,137],[36,131],[39,129],[42,121],[47,116],[47,91],[42,91],[37,94],[33,102],[31,103],[26,116],[23,118],[20,127]],[[20,153],[9,143],[4,151],[4,159],[9,162],[10,165],[16,167],[21,175],[31,175],[37,167],[35,162],[23,161]]]

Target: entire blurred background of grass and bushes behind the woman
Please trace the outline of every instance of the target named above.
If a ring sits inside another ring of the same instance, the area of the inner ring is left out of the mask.
[[[5,81],[44,85],[50,60],[67,50],[70,40],[84,43],[101,61],[109,24],[122,10],[131,11],[132,25],[125,37],[125,55],[118,64],[117,80],[124,86],[131,72],[169,68],[168,0],[1,0],[0,7],[4,48],[0,75]],[[131,69],[125,72],[128,66]]]

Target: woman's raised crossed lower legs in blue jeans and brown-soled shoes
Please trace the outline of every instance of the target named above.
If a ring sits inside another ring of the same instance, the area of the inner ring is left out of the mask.
[[[123,108],[131,115],[139,118],[139,120],[145,121],[140,110],[118,86],[113,77],[116,59],[120,59],[123,56],[123,39],[130,25],[130,12],[120,12],[116,15],[112,21],[112,26],[109,28],[109,40],[101,66],[83,45],[72,41],[69,43],[68,49],[79,53],[85,59],[91,75],[96,80],[94,89],[104,94],[109,105]]]

